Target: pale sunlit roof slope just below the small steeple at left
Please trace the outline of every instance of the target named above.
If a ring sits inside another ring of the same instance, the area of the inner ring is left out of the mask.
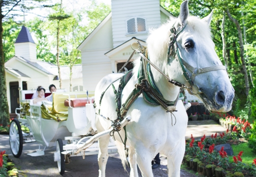
[[[55,74],[53,74],[53,72],[51,70],[51,67],[56,66],[55,64],[45,62],[45,61],[39,61],[39,60],[36,60],[36,62],[32,62],[28,59],[24,59],[23,57],[18,57],[18,56],[15,56],[15,57],[22,60],[23,62],[26,62],[26,63],[36,67],[37,69],[45,72],[46,74],[55,75]]]

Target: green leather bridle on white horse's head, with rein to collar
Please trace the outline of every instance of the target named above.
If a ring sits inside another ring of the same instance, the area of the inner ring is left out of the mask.
[[[170,82],[171,84],[174,84],[175,86],[178,86],[180,88],[183,89],[188,89],[190,94],[198,94],[198,93],[202,93],[202,91],[199,89],[199,87],[194,84],[194,79],[197,75],[202,74],[202,73],[206,73],[206,72],[211,72],[211,71],[216,71],[216,70],[226,70],[224,65],[216,65],[216,66],[210,66],[210,67],[204,67],[204,68],[194,68],[193,66],[191,66],[189,63],[187,63],[184,59],[182,59],[180,57],[180,52],[179,52],[179,48],[177,45],[177,37],[178,35],[186,28],[187,24],[178,32],[176,33],[176,29],[175,27],[172,27],[170,29],[171,34],[169,35],[169,43],[168,43],[168,52],[167,52],[167,64],[169,64],[170,62],[170,58],[171,57],[175,57],[175,56],[171,56],[172,51],[175,51],[175,54],[177,56],[177,59],[179,60],[180,66],[182,68],[183,71],[183,75],[186,79],[186,81],[190,84],[190,87],[185,86],[185,84],[179,83],[177,81],[174,81],[172,79],[170,79],[167,75],[165,75],[154,63],[152,63],[149,59],[147,59],[144,55],[143,52],[144,50],[146,50],[147,48],[141,46],[138,43],[138,48],[134,48],[134,43],[131,45],[131,48],[136,51],[143,59],[145,59],[147,62],[149,62],[155,69],[157,69],[167,80],[168,82]],[[189,71],[191,71],[192,75],[190,77],[189,72],[187,71],[187,69]]]

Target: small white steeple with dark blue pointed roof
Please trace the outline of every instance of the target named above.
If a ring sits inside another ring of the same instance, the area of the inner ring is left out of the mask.
[[[14,43],[15,56],[23,57],[32,62],[36,62],[36,44],[30,34],[29,29],[22,26],[22,29]]]

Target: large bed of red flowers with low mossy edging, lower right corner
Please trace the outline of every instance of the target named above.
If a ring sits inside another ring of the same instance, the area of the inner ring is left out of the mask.
[[[239,119],[238,122],[240,122]],[[245,125],[244,121],[243,125],[242,127],[246,127],[248,123]],[[216,145],[227,142],[237,142],[243,129],[238,131],[233,128],[233,130],[229,132],[227,129],[226,133],[221,133],[220,136],[217,133],[210,138],[203,136],[200,141],[195,141],[191,135],[191,139],[186,140],[184,164],[187,164],[193,171],[207,177],[255,177],[256,158],[251,165],[246,165],[242,160],[243,151],[240,151],[238,155],[232,157],[233,162],[230,163],[224,147],[219,151],[214,148]],[[249,130],[249,127],[244,128],[244,130]],[[247,133],[244,132],[244,134]]]

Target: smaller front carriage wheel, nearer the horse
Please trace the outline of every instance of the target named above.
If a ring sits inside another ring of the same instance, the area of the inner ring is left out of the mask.
[[[57,140],[56,151],[57,151],[57,155],[59,156],[58,161],[57,161],[59,172],[61,175],[63,175],[65,172],[65,155],[62,154],[63,142],[62,142],[62,139],[60,139],[60,138]]]

